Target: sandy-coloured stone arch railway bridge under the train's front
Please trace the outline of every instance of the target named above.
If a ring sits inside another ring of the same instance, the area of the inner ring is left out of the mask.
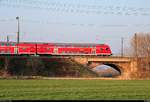
[[[74,56],[72,59],[89,68],[95,68],[99,65],[111,66],[121,73],[119,78],[123,79],[130,79],[131,74],[137,72],[137,60],[132,57]]]

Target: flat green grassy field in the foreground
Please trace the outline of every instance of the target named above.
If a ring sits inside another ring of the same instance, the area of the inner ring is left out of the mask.
[[[0,80],[0,100],[150,99],[148,80]]]

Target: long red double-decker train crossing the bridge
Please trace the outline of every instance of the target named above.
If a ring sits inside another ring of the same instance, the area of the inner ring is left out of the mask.
[[[0,55],[112,55],[107,44],[0,42]]]

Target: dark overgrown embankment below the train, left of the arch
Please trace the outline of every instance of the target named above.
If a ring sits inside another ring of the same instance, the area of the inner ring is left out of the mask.
[[[5,58],[0,59],[0,75],[45,77],[95,77],[96,74],[70,59],[60,58],[10,58],[7,69]]]

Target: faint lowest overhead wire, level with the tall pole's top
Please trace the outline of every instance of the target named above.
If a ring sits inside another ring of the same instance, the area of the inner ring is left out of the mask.
[[[0,22],[14,22],[15,19],[0,19]],[[33,23],[33,24],[48,24],[48,25],[69,25],[69,26],[83,26],[83,27],[150,27],[150,24],[95,24],[95,23],[73,23],[73,22],[59,22],[59,21],[48,21],[48,20],[32,20],[22,19],[20,22]]]

